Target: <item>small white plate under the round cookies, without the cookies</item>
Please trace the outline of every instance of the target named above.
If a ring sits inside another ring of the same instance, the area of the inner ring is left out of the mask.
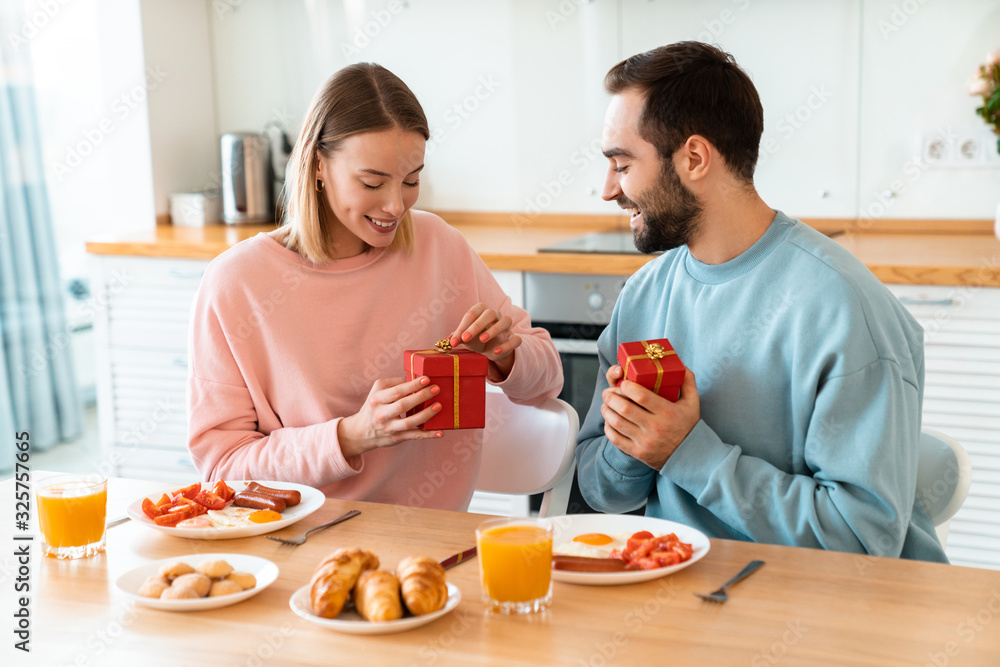
[[[257,578],[257,585],[242,593],[232,595],[220,595],[214,598],[196,598],[194,600],[161,600],[159,598],[147,598],[139,595],[139,589],[147,578],[157,574],[160,568],[167,563],[181,561],[191,567],[198,567],[198,564],[205,560],[224,560],[237,572],[249,572]],[[243,602],[247,598],[252,598],[257,593],[274,583],[278,578],[278,566],[266,558],[257,556],[247,556],[245,554],[190,554],[188,556],[177,556],[176,558],[165,558],[154,563],[141,565],[134,570],[129,570],[118,577],[115,586],[122,593],[132,598],[137,604],[153,609],[165,609],[167,611],[203,611],[205,609],[217,609],[228,607],[237,602]]]

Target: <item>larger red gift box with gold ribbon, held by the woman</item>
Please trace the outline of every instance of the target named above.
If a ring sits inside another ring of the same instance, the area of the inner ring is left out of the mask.
[[[433,350],[403,352],[406,379],[426,375],[441,392],[407,414],[415,414],[434,403],[441,411],[420,425],[424,431],[486,426],[486,371],[489,359],[472,350],[453,350],[439,340]]]

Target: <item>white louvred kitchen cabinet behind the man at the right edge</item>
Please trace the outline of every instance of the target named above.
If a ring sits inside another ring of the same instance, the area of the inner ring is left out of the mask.
[[[951,520],[952,563],[1000,569],[1000,289],[890,285],[924,327],[923,425],[957,439],[972,486]]]

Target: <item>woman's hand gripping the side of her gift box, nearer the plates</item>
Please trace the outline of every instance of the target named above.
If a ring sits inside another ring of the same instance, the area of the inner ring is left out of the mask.
[[[337,425],[337,438],[344,458],[358,456],[378,447],[391,447],[405,440],[440,438],[441,431],[423,431],[421,424],[441,410],[435,403],[407,417],[411,408],[431,400],[441,391],[421,376],[407,382],[403,378],[376,380],[368,398],[356,415],[344,417]]]

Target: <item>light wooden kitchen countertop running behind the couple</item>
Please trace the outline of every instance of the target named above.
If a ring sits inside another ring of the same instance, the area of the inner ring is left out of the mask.
[[[544,246],[588,231],[627,231],[624,216],[439,212],[459,229],[493,270],[630,275],[645,255],[540,253]],[[880,280],[893,284],[1000,287],[1000,240],[989,221],[881,221],[861,226],[848,220],[806,220],[831,234]],[[148,231],[87,243],[99,255],[211,259],[272,225],[160,225]],[[946,233],[942,233],[946,230]]]

